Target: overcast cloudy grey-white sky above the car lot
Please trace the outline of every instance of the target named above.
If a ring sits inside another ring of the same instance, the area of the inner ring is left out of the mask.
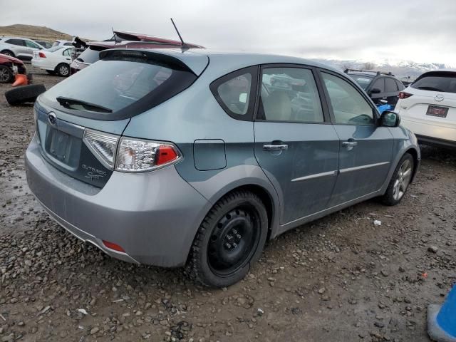
[[[111,26],[210,48],[307,58],[456,66],[456,0],[0,0],[0,26],[33,24],[86,38]]]

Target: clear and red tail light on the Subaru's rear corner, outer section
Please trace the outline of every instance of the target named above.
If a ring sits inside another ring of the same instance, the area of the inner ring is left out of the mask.
[[[115,170],[151,171],[177,162],[181,157],[177,147],[169,142],[121,138],[115,158]]]

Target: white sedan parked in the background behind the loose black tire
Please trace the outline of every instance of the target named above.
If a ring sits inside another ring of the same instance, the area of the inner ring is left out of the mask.
[[[34,51],[31,65],[46,70],[51,75],[70,76],[73,46],[53,46],[47,50]]]

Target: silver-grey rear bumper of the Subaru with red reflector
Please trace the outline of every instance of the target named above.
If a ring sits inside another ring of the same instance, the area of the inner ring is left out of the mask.
[[[211,204],[174,166],[155,172],[113,172],[103,189],[56,170],[36,137],[26,151],[28,187],[46,211],[72,234],[124,261],[182,266]],[[125,253],[103,245],[120,245]]]

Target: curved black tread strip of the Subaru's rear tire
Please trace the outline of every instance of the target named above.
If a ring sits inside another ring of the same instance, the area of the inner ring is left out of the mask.
[[[197,281],[199,284],[204,286],[213,287],[213,284],[210,284],[207,279],[205,279],[204,274],[201,269],[201,265],[197,261],[199,257],[199,253],[204,250],[202,247],[203,240],[207,231],[211,229],[211,224],[217,219],[217,214],[221,212],[224,206],[228,205],[230,202],[233,202],[239,198],[247,199],[251,198],[255,201],[263,203],[261,199],[255,195],[253,192],[249,192],[247,190],[237,190],[234,192],[230,192],[229,194],[225,195],[219,201],[214,204],[212,209],[209,210],[206,217],[204,217],[202,224],[199,226],[195,239],[193,240],[192,247],[190,249],[190,254],[187,259],[187,264],[185,266],[185,273],[187,276],[192,279],[192,281]],[[263,204],[264,205],[264,204]],[[252,261],[251,261],[252,262]]]

